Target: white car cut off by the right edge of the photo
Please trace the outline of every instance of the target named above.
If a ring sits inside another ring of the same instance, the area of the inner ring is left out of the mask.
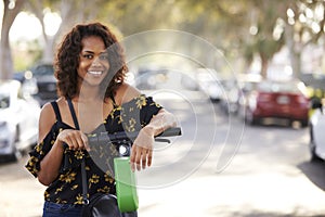
[[[325,111],[321,101],[312,102],[314,113],[310,117],[310,153],[311,161],[325,161]]]

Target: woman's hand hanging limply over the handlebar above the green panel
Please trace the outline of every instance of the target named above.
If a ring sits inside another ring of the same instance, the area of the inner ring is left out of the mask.
[[[142,128],[133,142],[130,163],[132,171],[145,169],[146,166],[152,165],[154,132],[150,128]]]

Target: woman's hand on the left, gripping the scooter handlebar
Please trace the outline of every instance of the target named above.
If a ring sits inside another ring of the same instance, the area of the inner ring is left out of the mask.
[[[80,130],[64,129],[58,133],[56,141],[60,145],[68,145],[68,149],[70,150],[86,149],[87,151],[90,151],[88,138]]]

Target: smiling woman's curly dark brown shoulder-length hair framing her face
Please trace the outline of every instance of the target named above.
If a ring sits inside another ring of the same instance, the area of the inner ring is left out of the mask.
[[[61,97],[73,98],[78,94],[77,68],[80,62],[79,54],[82,50],[81,40],[89,36],[101,37],[107,48],[109,69],[107,76],[100,85],[104,100],[114,95],[118,86],[125,80],[128,67],[125,61],[123,49],[116,36],[107,26],[99,22],[78,24],[63,38],[54,60],[57,94]]]

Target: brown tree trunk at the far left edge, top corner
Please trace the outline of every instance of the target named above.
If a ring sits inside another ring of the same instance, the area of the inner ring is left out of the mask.
[[[10,47],[10,28],[23,8],[25,0],[3,0],[3,17],[0,43],[0,78],[9,79],[14,72]]]

